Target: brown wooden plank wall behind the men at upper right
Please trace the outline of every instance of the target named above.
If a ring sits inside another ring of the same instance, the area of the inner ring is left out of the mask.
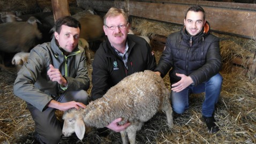
[[[192,5],[201,5],[211,28],[219,33],[256,39],[256,4],[209,2],[189,0],[169,1],[82,1],[78,5],[91,6],[107,12],[112,6],[124,9],[130,16],[183,24],[186,10]]]

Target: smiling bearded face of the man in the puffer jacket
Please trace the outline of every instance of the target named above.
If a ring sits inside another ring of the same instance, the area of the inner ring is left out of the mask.
[[[201,32],[202,28],[204,28],[205,22],[204,13],[201,11],[189,11],[187,12],[186,19],[184,19],[186,31],[192,36]]]

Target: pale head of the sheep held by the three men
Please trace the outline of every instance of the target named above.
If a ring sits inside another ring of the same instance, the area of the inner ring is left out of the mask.
[[[77,137],[82,140],[85,135],[85,123],[80,115],[81,110],[72,108],[65,111],[63,115],[64,125],[62,133],[65,137],[69,137],[72,133],[76,132]]]

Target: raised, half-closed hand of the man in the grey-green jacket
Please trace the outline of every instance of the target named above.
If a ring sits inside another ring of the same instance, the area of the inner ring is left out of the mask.
[[[57,81],[59,85],[62,85],[63,87],[67,86],[67,81],[64,77],[62,77],[61,72],[59,72],[59,69],[55,69],[53,65],[49,65],[50,69],[47,71],[47,74],[49,75],[49,78],[51,81]]]

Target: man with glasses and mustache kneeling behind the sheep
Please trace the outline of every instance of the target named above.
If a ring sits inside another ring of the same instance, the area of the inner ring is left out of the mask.
[[[92,100],[102,97],[127,75],[153,71],[156,67],[155,57],[146,40],[128,34],[130,24],[122,9],[109,9],[104,17],[103,29],[107,40],[101,43],[93,60]],[[118,118],[107,127],[116,132],[123,131],[130,124],[118,125],[121,120]]]

